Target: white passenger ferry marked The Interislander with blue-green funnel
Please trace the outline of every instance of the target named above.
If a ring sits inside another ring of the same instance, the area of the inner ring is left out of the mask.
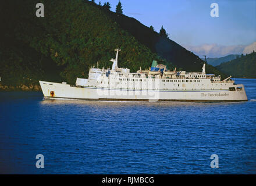
[[[201,72],[170,71],[164,65],[149,70],[118,67],[118,53],[112,69],[90,68],[88,79],[77,78],[76,85],[39,81],[45,98],[72,98],[106,101],[247,101],[244,85],[230,77]]]

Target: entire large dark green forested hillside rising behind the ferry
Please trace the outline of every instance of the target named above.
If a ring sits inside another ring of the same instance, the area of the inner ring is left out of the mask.
[[[122,49],[119,66],[131,71],[152,60],[201,71],[198,56],[135,19],[85,0],[40,2],[45,17],[35,16],[35,0],[1,3],[0,89],[37,90],[38,80],[74,84],[97,62],[111,67],[115,48]],[[220,74],[212,66],[207,72]]]

